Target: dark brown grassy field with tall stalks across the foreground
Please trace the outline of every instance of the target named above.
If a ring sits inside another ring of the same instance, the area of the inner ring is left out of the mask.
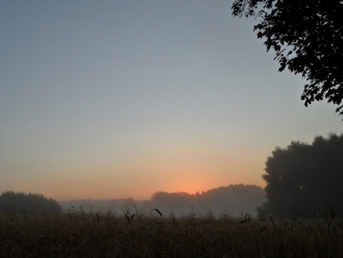
[[[0,257],[343,257],[343,222],[4,212]]]

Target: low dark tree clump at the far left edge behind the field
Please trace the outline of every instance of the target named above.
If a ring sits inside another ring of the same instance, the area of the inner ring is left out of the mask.
[[[7,191],[0,195],[0,212],[60,213],[61,206],[56,200],[40,194]]]

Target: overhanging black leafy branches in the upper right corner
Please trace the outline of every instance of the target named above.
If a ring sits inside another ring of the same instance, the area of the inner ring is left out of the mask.
[[[258,38],[273,48],[279,71],[307,79],[305,105],[326,98],[343,116],[343,1],[235,0],[233,16],[253,16]]]

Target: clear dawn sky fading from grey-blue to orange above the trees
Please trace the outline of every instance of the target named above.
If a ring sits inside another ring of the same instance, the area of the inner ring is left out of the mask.
[[[267,157],[342,133],[232,1],[0,1],[0,192],[147,200],[265,186]]]

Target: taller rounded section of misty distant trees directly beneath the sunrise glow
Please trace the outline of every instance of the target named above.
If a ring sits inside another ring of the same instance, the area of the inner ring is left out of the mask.
[[[187,192],[155,192],[145,207],[158,207],[165,215],[187,215],[187,212],[199,212],[202,215],[244,216],[247,213],[257,216],[257,207],[266,200],[265,191],[257,185],[228,185],[217,187],[195,195]],[[148,209],[149,210],[149,209]]]

